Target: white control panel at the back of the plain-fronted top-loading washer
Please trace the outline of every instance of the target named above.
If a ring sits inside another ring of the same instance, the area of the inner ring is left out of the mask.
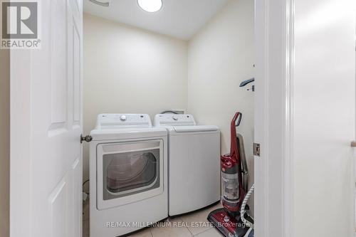
[[[194,126],[197,123],[193,115],[159,114],[155,116],[155,126]]]

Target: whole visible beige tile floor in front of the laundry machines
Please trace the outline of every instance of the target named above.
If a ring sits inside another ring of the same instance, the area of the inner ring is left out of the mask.
[[[206,217],[210,211],[221,208],[221,204],[212,206],[193,214],[169,218],[159,227],[146,228],[130,237],[221,237],[221,234],[211,227]],[[89,237],[89,201],[83,204],[83,237]]]

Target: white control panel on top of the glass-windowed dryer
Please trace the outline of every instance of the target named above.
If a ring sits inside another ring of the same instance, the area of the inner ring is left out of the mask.
[[[125,127],[152,127],[150,115],[145,114],[100,114],[96,129],[115,129]]]

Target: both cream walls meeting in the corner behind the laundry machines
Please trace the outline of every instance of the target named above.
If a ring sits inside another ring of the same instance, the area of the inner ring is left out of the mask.
[[[253,1],[231,0],[189,41],[179,41],[95,16],[84,16],[84,130],[100,112],[187,108],[200,124],[221,128],[229,152],[230,121],[244,115],[246,157],[253,182]],[[88,145],[84,149],[88,179]]]

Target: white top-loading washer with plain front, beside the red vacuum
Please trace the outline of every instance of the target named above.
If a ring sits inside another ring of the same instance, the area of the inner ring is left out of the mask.
[[[220,131],[192,115],[156,115],[168,131],[168,214],[196,211],[220,200]]]

